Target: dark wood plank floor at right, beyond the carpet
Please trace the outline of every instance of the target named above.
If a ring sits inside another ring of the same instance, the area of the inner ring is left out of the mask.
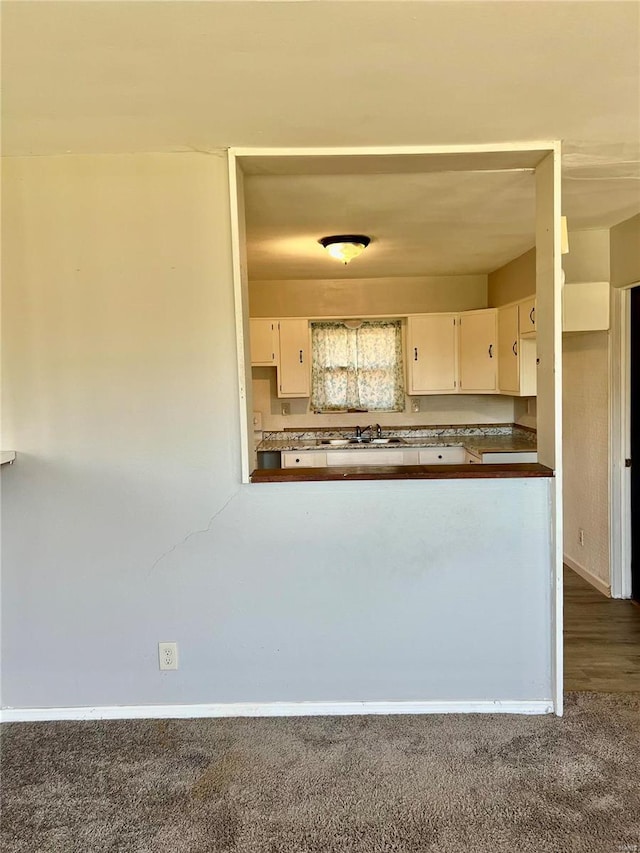
[[[564,689],[640,691],[640,607],[564,569]]]

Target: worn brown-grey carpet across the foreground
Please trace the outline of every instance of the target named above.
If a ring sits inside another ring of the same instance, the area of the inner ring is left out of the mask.
[[[566,716],[14,723],[4,853],[640,853],[640,695]]]

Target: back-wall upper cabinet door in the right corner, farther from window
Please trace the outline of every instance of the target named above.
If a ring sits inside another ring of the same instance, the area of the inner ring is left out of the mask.
[[[498,319],[495,308],[460,315],[460,391],[495,394],[498,388]]]

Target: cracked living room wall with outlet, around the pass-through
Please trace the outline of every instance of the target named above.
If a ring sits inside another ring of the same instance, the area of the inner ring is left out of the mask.
[[[549,480],[241,484],[224,152],[2,180],[5,707],[548,699]]]

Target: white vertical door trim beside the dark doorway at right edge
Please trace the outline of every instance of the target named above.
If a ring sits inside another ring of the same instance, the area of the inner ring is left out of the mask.
[[[630,289],[611,288],[609,546],[613,598],[631,598],[631,470],[625,468],[625,459],[631,455]]]

